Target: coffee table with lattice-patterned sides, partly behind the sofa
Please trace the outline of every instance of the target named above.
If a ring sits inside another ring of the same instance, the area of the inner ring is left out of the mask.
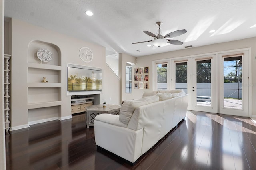
[[[107,104],[106,107],[103,105],[92,105],[86,107],[86,127],[94,126],[94,118],[102,113],[108,113],[112,115],[119,115],[121,106]]]

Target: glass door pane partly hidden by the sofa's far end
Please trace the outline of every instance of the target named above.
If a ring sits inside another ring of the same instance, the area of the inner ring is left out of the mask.
[[[175,89],[188,93],[188,63],[175,63]]]

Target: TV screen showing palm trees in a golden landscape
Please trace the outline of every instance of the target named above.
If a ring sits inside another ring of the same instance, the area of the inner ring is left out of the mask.
[[[102,71],[68,67],[68,91],[102,90]]]

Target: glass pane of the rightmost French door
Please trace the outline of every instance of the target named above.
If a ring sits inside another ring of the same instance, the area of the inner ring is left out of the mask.
[[[242,109],[242,56],[224,58],[224,108]]]

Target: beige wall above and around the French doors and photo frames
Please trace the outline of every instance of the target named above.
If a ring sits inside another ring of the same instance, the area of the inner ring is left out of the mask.
[[[152,61],[160,60],[160,59],[169,59],[175,57],[184,57],[184,56],[191,56],[191,55],[200,55],[206,53],[214,53],[218,51],[228,51],[228,50],[235,50],[235,49],[243,49],[243,48],[251,48],[252,49],[252,61],[251,61],[251,73],[252,73],[252,117],[256,117],[256,37],[254,38],[247,38],[243,40],[231,41],[231,42],[224,42],[224,43],[217,43],[213,45],[206,45],[202,47],[193,47],[188,49],[182,49],[178,51],[172,51],[167,53],[159,53],[154,55],[147,55],[143,57],[138,57],[137,59],[137,67],[150,67],[150,71],[152,71]],[[152,73],[152,72],[151,72]],[[150,74],[150,89],[147,91],[152,91],[152,74]],[[140,98],[144,90],[136,89],[133,91],[131,98]]]

